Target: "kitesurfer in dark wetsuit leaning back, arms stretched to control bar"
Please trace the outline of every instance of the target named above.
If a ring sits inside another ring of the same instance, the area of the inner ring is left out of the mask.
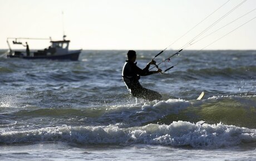
[[[157,71],[149,71],[149,67],[152,64],[155,64],[155,61],[151,61],[147,64],[144,69],[141,69],[136,66],[136,52],[128,51],[127,53],[128,60],[124,64],[122,69],[122,79],[125,82],[126,87],[131,92],[132,96],[136,98],[142,98],[147,100],[160,100],[162,98],[161,94],[155,92],[154,90],[146,89],[140,85],[139,79],[140,76],[149,76],[155,73],[161,73],[162,70],[158,69]]]

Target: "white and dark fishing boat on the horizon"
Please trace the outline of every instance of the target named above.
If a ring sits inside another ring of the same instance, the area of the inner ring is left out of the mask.
[[[50,38],[7,38],[7,44],[9,47],[9,52],[7,54],[8,58],[23,58],[23,59],[52,59],[52,60],[70,60],[77,61],[79,58],[80,50],[68,50],[70,41],[65,39],[61,41],[52,41]],[[50,40],[51,45],[42,50],[32,50],[30,51],[28,43],[23,44],[21,40]],[[12,43],[15,45],[22,45],[26,47],[26,50],[12,50],[9,41],[13,40]]]

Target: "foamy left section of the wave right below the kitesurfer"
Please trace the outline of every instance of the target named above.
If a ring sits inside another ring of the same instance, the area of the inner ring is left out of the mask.
[[[86,124],[116,124],[120,127],[131,127],[152,122],[168,114],[178,114],[191,103],[182,99],[153,101],[149,103],[111,105],[91,108],[40,108],[19,110],[11,114],[17,117],[37,118],[77,118],[84,119]]]

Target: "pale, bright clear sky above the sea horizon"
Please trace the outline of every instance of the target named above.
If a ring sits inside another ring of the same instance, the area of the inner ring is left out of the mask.
[[[205,29],[194,41],[198,42],[186,49],[256,49],[256,18],[248,22],[256,16],[255,0],[247,0],[209,28],[243,1],[0,0],[0,49],[8,48],[8,37],[61,40],[63,32],[71,41],[71,49],[180,49]],[[228,3],[208,17],[225,2]],[[224,27],[249,11],[252,12]],[[223,37],[245,22],[248,23]],[[219,28],[218,32],[201,39]],[[186,32],[188,34],[181,37]],[[48,40],[27,42],[31,49],[46,48],[50,44]],[[13,44],[11,47],[22,48]]]

